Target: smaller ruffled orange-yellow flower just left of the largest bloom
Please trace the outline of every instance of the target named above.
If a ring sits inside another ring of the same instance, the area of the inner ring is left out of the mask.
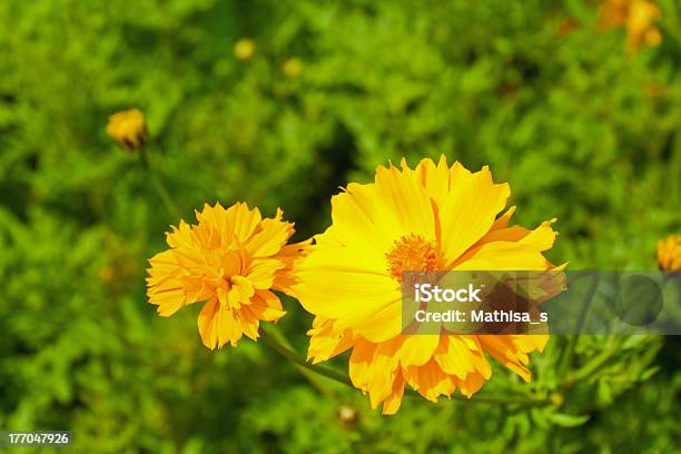
[[[303,248],[286,245],[293,224],[260,216],[246,204],[225,209],[205,205],[197,225],[184,220],[166,234],[170,249],[154,256],[147,269],[149,303],[168,317],[184,306],[207,302],[198,317],[204,345],[235,346],[245,334],[257,339],[260,320],[276,322],[285,313],[272,289],[286,290],[288,272]]]

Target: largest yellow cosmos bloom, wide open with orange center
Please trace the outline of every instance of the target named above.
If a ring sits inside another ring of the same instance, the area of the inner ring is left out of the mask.
[[[515,207],[507,184],[487,167],[422,160],[415,169],[378,167],[373,184],[351,184],[332,198],[332,226],[299,260],[292,294],[316,315],[308,332],[314,363],[352,349],[353,384],[383,413],[399,408],[412,386],[436,402],[460,389],[466,396],[490,378],[487,355],[530,381],[527,354],[545,335],[402,335],[403,270],[545,270],[551,225],[509,227]]]

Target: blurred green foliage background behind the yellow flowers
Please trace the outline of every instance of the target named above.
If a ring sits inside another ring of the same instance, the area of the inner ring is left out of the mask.
[[[628,53],[582,0],[0,2],[0,430],[71,430],[82,453],[678,450],[674,337],[555,337],[532,384],[496,367],[478,395],[517,403],[393,417],[263,343],[210,353],[199,305],[146,303],[178,219],[105,132],[145,112],[186,220],[280,206],[302,239],[338,186],[444,152],[510,181],[516,221],[559,217],[553,261],[654,269],[681,233],[681,7],[659,4],[661,45]],[[285,305],[305,352],[310,317]]]

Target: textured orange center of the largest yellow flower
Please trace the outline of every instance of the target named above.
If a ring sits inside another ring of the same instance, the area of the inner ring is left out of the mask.
[[[444,266],[437,244],[414,234],[397,239],[385,258],[388,272],[397,280],[402,280],[403,272],[432,272]]]

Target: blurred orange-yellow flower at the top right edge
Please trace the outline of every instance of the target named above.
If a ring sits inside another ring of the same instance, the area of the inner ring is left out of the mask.
[[[652,0],[604,0],[601,6],[601,27],[626,27],[626,51],[635,52],[642,45],[655,47],[662,34],[655,22],[662,17]]]

